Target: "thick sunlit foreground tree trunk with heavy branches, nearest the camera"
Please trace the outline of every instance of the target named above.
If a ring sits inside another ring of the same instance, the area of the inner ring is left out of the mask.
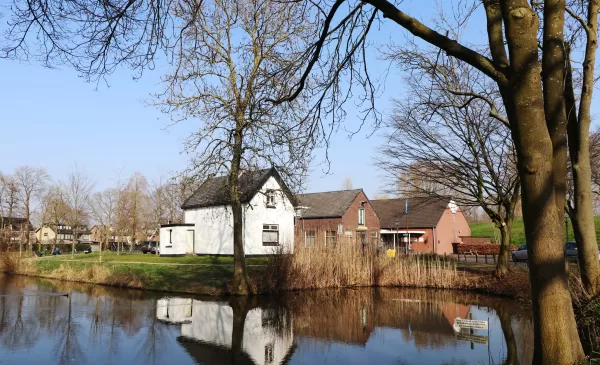
[[[529,253],[535,364],[585,360],[565,270],[562,219],[554,193],[553,146],[546,125],[538,57],[539,19],[526,0],[501,2],[511,60],[509,84],[515,122],[522,208]]]

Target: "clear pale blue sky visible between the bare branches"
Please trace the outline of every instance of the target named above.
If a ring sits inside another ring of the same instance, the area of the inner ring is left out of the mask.
[[[429,20],[431,4],[425,3],[433,2],[406,2],[404,9]],[[485,36],[481,23],[470,27],[472,36]],[[406,36],[386,22],[371,40],[386,44]],[[90,175],[97,190],[138,171],[149,181],[182,171],[188,161],[182,154],[182,141],[199,121],[172,125],[168,115],[149,105],[150,94],[162,90],[160,77],[168,70],[162,65],[135,81],[130,70],[120,69],[108,76],[109,85],[97,85],[86,83],[66,67],[47,69],[0,60],[0,171],[10,173],[21,165],[43,167],[57,181],[77,166]],[[384,116],[389,114],[391,99],[402,96],[402,83],[403,75],[392,69],[377,101]],[[347,125],[357,122],[353,113],[344,121]],[[383,133],[367,125],[352,139],[343,129],[334,134],[328,151],[331,164],[322,164],[324,150],[315,152],[306,191],[339,190],[346,177],[370,197],[388,189],[385,172],[374,165],[377,148],[385,143]]]

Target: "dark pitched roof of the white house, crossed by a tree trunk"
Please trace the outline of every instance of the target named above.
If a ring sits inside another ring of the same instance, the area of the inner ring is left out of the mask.
[[[240,200],[242,203],[248,203],[254,195],[267,182],[269,177],[273,176],[281,189],[288,195],[288,198],[294,202],[292,194],[287,185],[281,179],[279,172],[274,167],[262,170],[244,171],[240,176]],[[229,195],[229,183],[227,176],[217,176],[206,180],[181,206],[181,209],[194,209],[202,207],[213,207],[231,204]]]

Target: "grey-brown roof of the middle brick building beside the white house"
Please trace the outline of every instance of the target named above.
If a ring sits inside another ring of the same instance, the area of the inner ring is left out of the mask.
[[[302,208],[302,218],[343,217],[362,189],[328,191],[298,195],[298,205]],[[306,209],[304,209],[306,207]]]

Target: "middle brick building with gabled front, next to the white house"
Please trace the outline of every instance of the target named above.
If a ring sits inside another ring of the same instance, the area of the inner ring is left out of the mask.
[[[362,189],[298,195],[296,245],[379,242],[379,216]]]

